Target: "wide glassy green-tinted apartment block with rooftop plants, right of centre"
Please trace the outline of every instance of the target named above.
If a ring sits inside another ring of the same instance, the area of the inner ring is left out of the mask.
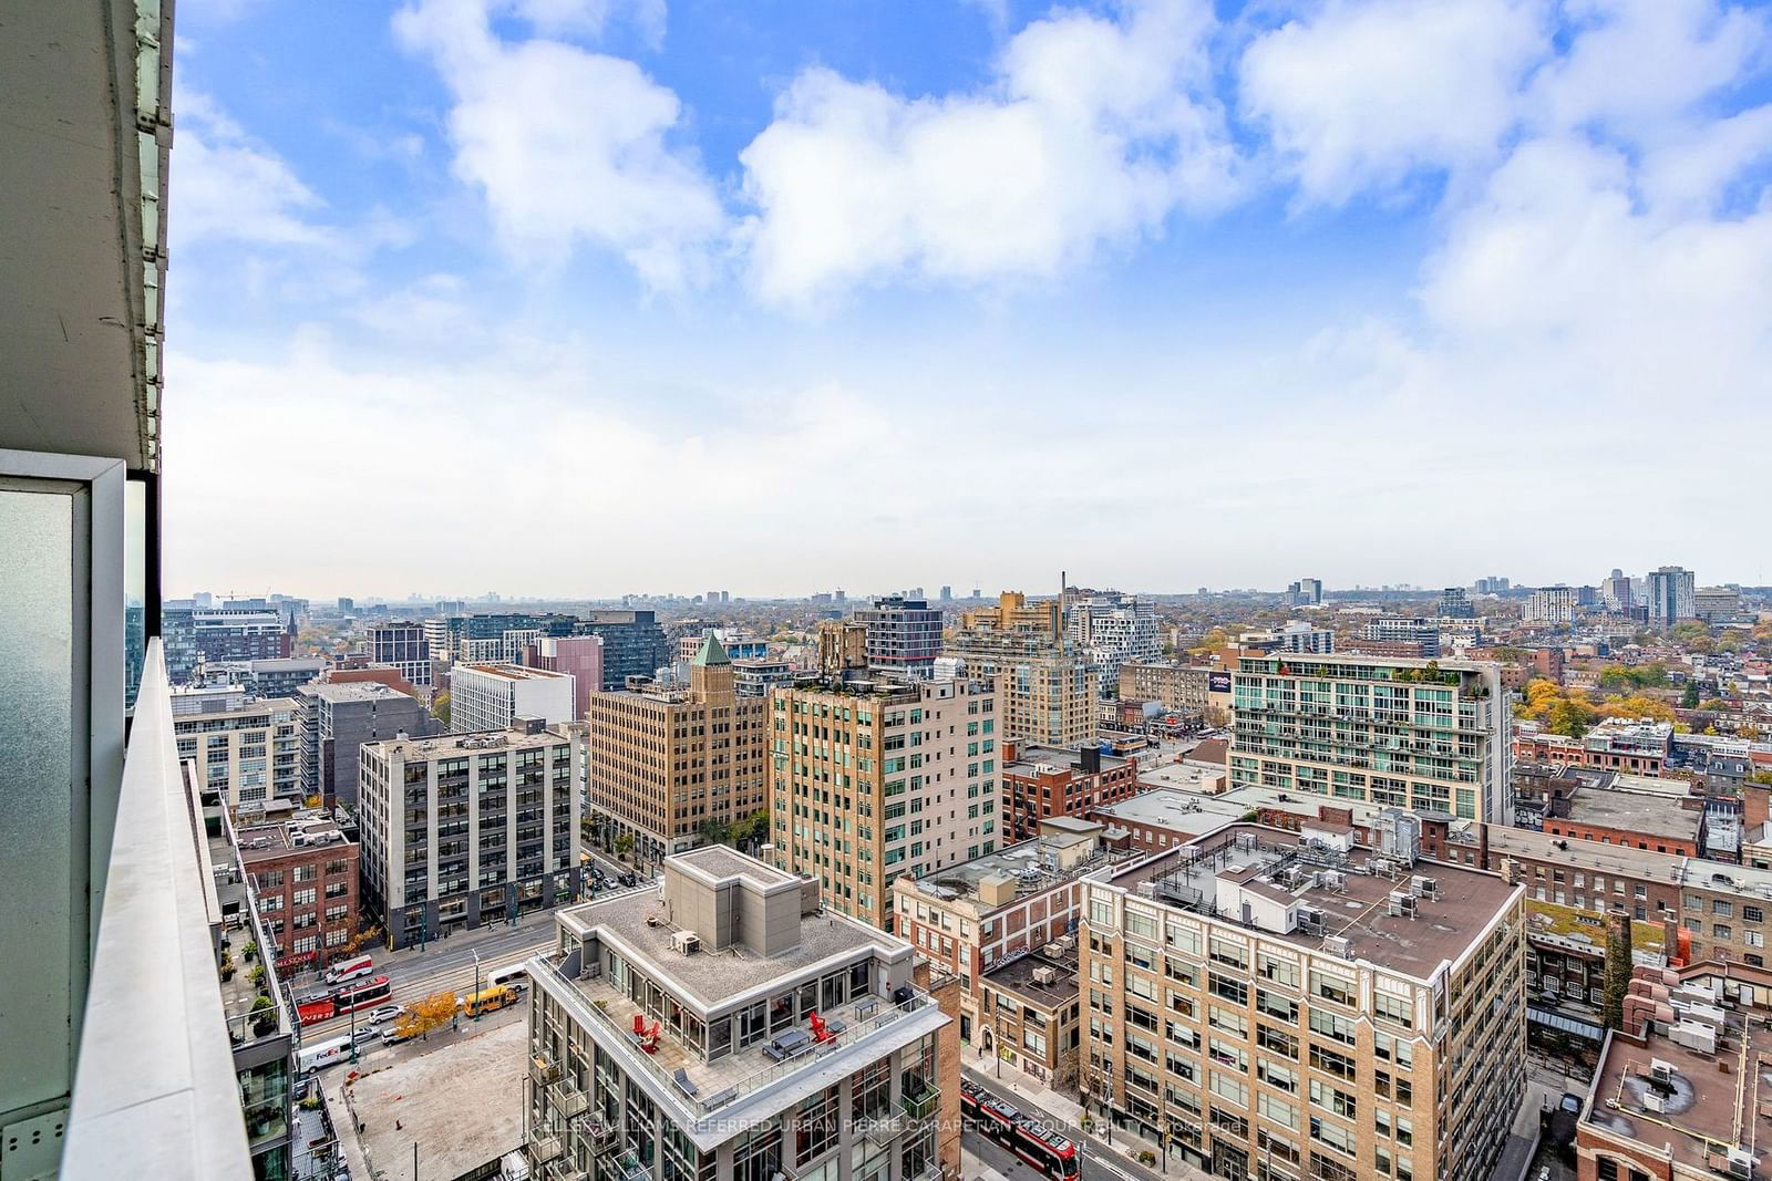
[[[1230,783],[1504,823],[1512,715],[1501,666],[1242,657]]]

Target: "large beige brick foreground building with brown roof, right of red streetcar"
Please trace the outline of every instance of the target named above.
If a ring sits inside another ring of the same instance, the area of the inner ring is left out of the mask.
[[[1488,1177],[1526,1091],[1522,889],[1233,825],[1083,907],[1097,1119],[1228,1177]]]

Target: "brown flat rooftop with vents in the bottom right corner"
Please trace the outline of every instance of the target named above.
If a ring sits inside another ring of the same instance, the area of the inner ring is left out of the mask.
[[[1761,1057],[1772,1054],[1772,1034],[1735,1013],[1726,1022],[1715,1054],[1660,1034],[1652,1034],[1648,1045],[1614,1034],[1595,1073],[1584,1121],[1657,1154],[1671,1151],[1676,1163],[1699,1172],[1731,1147],[1772,1140],[1772,1068],[1761,1066]],[[1673,1068],[1667,1078],[1653,1078],[1655,1062]]]

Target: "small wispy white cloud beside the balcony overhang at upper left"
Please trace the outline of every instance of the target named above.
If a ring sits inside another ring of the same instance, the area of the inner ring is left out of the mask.
[[[209,96],[179,89],[174,97],[174,248],[202,241],[317,246],[330,232],[312,218],[324,202],[276,152],[248,136]]]

